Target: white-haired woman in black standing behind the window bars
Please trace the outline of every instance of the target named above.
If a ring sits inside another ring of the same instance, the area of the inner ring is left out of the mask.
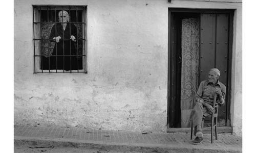
[[[73,23],[69,23],[69,18],[69,13],[67,11],[59,11],[58,19],[60,23],[56,23],[52,27],[49,39],[56,43],[52,54],[53,56],[51,57],[51,69],[77,69],[77,58],[75,56],[70,56],[77,55],[75,48],[77,42],[77,29]]]

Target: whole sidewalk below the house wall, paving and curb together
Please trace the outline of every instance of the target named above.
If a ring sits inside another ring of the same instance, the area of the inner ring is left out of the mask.
[[[189,133],[142,134],[29,125],[15,125],[14,144],[141,152],[242,152],[242,137],[230,133],[218,134],[212,144],[210,135],[205,134],[201,144],[193,145]]]

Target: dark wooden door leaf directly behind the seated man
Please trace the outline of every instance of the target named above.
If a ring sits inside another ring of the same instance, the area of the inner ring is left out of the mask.
[[[200,29],[199,81],[207,79],[210,68],[218,68],[219,80],[227,86],[229,14],[201,14]],[[228,126],[227,98],[226,94],[226,104],[219,108],[219,126]]]

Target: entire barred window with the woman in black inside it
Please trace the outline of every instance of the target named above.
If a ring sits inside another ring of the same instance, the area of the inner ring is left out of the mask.
[[[34,73],[86,71],[86,6],[33,5]]]

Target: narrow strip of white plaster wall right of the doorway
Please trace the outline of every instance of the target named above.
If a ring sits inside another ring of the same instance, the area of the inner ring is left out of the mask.
[[[242,8],[234,12],[232,54],[231,125],[233,134],[242,136]]]

